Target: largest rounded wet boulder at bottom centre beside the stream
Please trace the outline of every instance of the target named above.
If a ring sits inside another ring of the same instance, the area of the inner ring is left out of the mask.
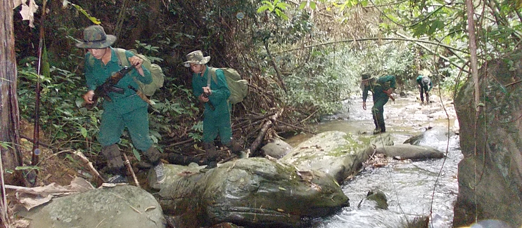
[[[174,227],[233,222],[251,227],[302,227],[303,217],[329,215],[348,206],[336,180],[322,171],[298,170],[263,158],[200,166],[167,165],[167,179],[154,185]]]

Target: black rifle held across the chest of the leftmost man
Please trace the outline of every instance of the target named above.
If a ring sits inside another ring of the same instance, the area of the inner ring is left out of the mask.
[[[87,107],[87,109],[93,109],[94,107],[96,107],[96,105],[98,105],[99,98],[104,98],[108,101],[111,101],[112,99],[110,99],[108,96],[110,92],[122,94],[123,89],[114,86],[118,83],[118,81],[120,81],[120,79],[123,78],[123,76],[125,76],[125,74],[129,73],[132,69],[134,69],[134,67],[123,67],[122,69],[120,69],[120,71],[108,77],[108,79],[103,84],[96,87],[96,89],[94,90],[94,96],[92,97],[93,103],[84,103],[84,106]]]

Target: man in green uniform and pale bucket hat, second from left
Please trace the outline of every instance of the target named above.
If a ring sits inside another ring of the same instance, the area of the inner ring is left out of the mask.
[[[207,66],[210,56],[203,56],[202,51],[193,51],[186,55],[185,67],[190,67],[192,74],[192,91],[200,102],[204,103],[203,111],[203,148],[207,154],[207,168],[214,168],[217,149],[214,144],[219,135],[222,145],[229,147],[234,154],[241,155],[241,145],[232,138],[230,122],[231,104],[227,79],[221,69],[216,70],[217,80],[210,79]]]

